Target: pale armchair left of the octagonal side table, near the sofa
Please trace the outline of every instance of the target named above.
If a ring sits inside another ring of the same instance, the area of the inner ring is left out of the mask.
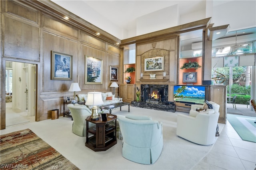
[[[86,117],[90,116],[92,112],[85,105],[68,104],[68,109],[73,118],[72,132],[78,136],[86,136]],[[89,127],[93,124],[89,122]]]

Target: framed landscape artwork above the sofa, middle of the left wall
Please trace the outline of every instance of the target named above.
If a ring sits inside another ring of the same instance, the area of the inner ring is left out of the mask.
[[[102,84],[102,60],[85,56],[85,84]]]

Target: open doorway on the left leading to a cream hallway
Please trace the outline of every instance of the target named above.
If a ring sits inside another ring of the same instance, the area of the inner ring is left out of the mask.
[[[36,64],[6,61],[6,127],[34,122]]]

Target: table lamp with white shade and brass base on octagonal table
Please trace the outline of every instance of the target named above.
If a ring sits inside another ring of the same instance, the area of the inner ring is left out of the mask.
[[[87,97],[87,101],[86,101],[85,105],[93,106],[91,120],[99,119],[97,106],[102,105],[102,104],[104,104],[104,103],[102,101],[101,92],[88,92],[88,97]]]

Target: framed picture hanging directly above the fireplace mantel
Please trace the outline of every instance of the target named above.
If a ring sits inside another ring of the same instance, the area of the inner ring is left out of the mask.
[[[144,62],[144,71],[164,71],[164,56],[148,57]]]

